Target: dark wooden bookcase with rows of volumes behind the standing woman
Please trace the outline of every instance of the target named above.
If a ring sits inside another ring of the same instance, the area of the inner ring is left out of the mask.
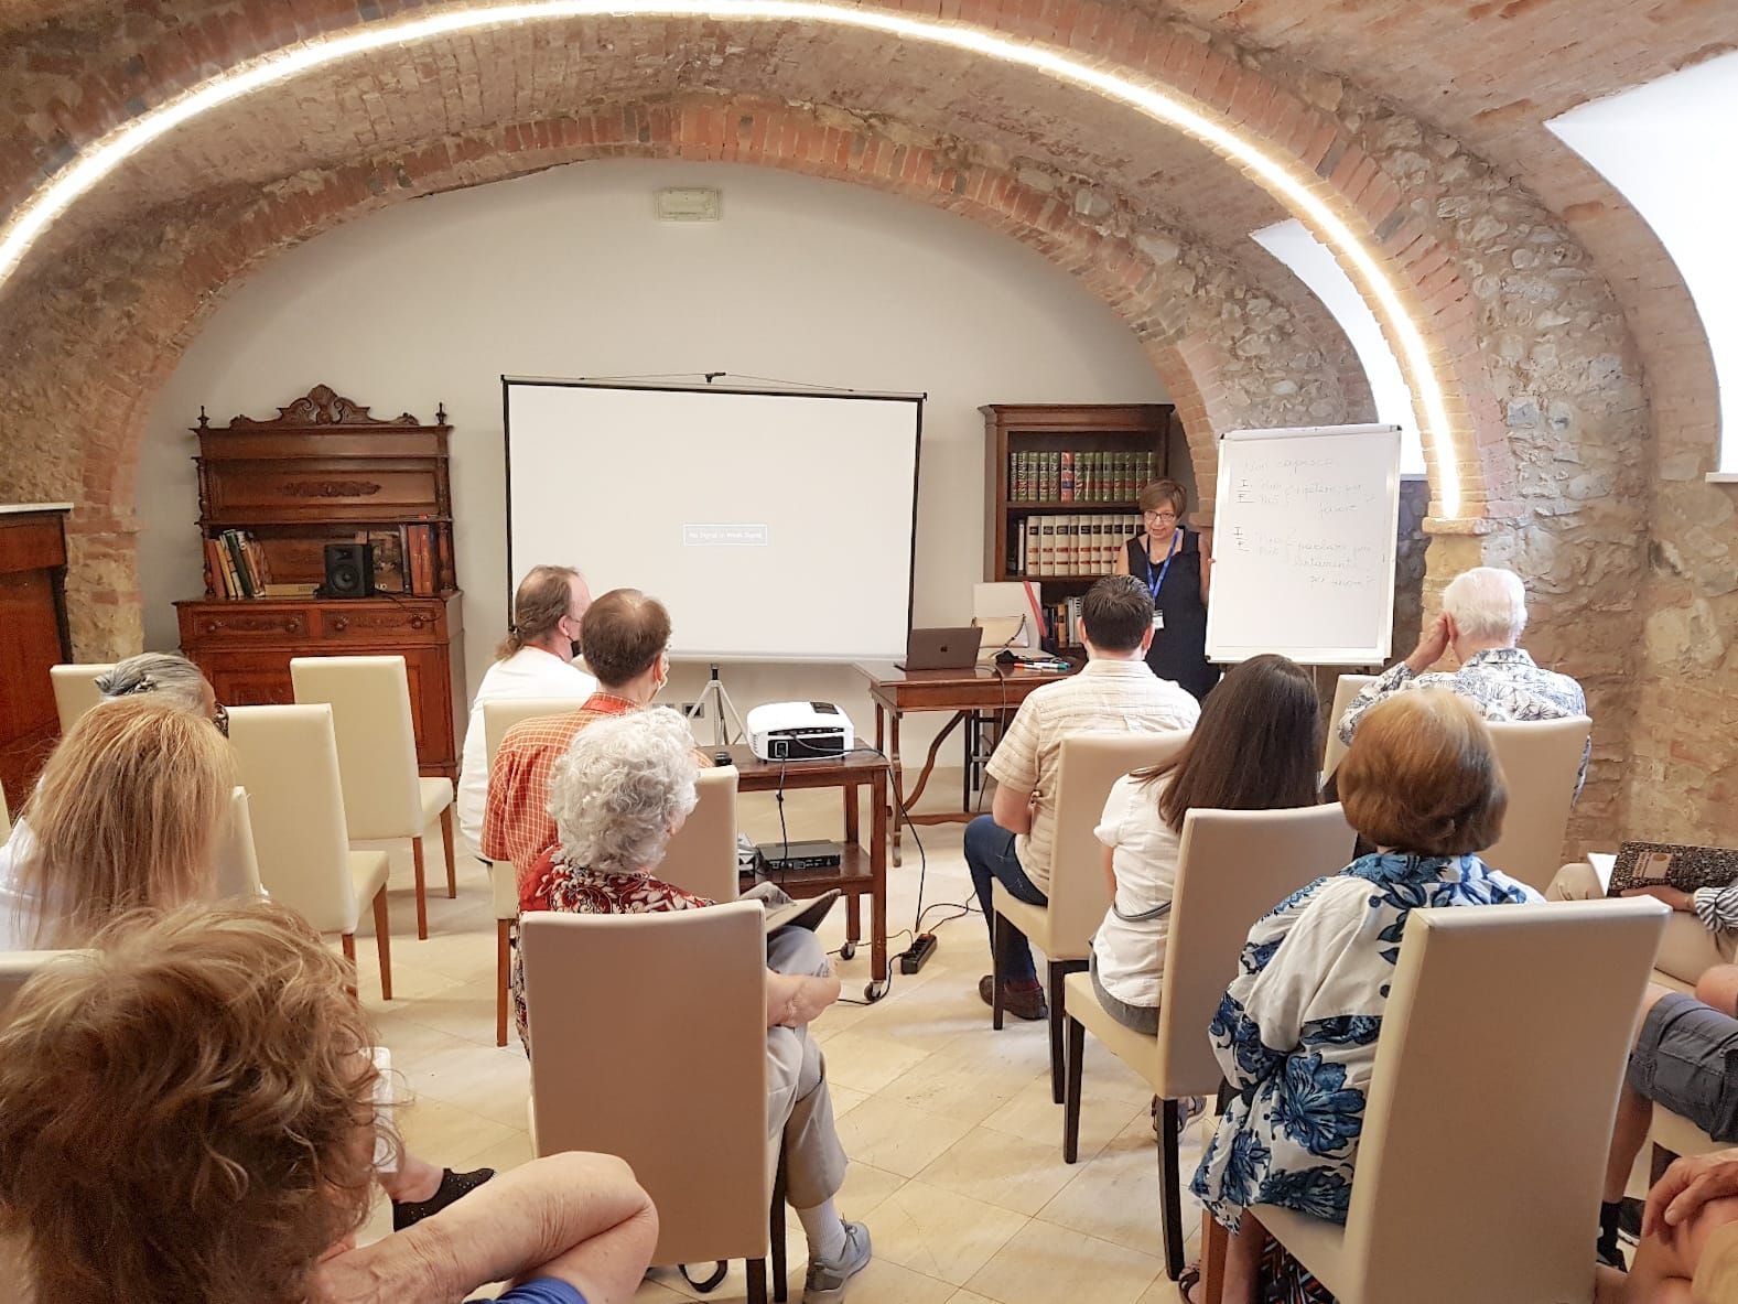
[[[1140,532],[1140,489],[1168,476],[1170,403],[989,403],[984,577],[1038,586],[1051,636],[1078,652],[1079,598]]]

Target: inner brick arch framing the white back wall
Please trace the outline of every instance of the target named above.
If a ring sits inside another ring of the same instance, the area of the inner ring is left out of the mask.
[[[276,252],[389,203],[615,156],[739,162],[867,184],[956,212],[1032,247],[1081,280],[1142,339],[1175,395],[1208,496],[1218,433],[1237,424],[1302,422],[1323,412],[1304,405],[1310,395],[1250,398],[1251,391],[1274,393],[1276,381],[1293,376],[1283,360],[1293,360],[1298,349],[1319,353],[1321,346],[1304,323],[1248,323],[1243,334],[1232,334],[1224,322],[1224,304],[1204,299],[1199,287],[1208,278],[1237,283],[1241,269],[1180,236],[1173,257],[1163,256],[1170,249],[1154,257],[1138,243],[1078,217],[1065,193],[1046,193],[1034,184],[1041,177],[1031,167],[1024,169],[1022,181],[992,162],[972,160],[970,150],[958,141],[869,127],[855,116],[813,108],[704,96],[507,123],[480,136],[428,141],[393,158],[290,177],[268,193],[214,205],[195,221],[176,223],[172,233],[134,224],[123,236],[132,243],[115,264],[122,271],[111,275],[109,285],[82,283],[89,264],[75,256],[64,266],[47,268],[45,280],[26,287],[47,309],[28,323],[36,343],[35,376],[26,367],[0,381],[0,389],[12,389],[21,407],[33,409],[38,419],[76,429],[83,442],[71,492],[80,499],[71,523],[75,586],[80,607],[96,603],[99,610],[96,617],[89,610],[75,615],[80,654],[132,650],[137,642],[137,633],[99,636],[92,619],[108,629],[137,629],[137,522],[132,513],[144,426],[155,395],[228,287]],[[1097,191],[1102,195],[1104,188]],[[106,247],[113,238],[94,243]],[[70,292],[71,285],[80,290]],[[137,299],[122,297],[129,289]],[[85,332],[89,322],[80,309],[92,299],[109,301],[115,309],[104,320],[106,334]],[[1337,330],[1328,318],[1316,325]],[[21,341],[19,327],[19,322],[7,323],[0,343],[7,336]],[[64,341],[64,355],[54,348],[56,337]],[[1262,348],[1239,358],[1232,348],[1239,337],[1257,337]],[[47,376],[63,369],[94,384],[70,386],[71,407],[50,416],[31,400]],[[1342,379],[1321,376],[1314,395],[1317,403],[1340,403],[1333,410],[1337,417],[1349,416]],[[64,483],[42,487],[43,496],[66,492]],[[1211,501],[1201,506],[1210,518]]]

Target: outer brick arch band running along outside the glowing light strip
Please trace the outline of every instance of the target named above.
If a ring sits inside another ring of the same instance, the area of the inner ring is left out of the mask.
[[[864,7],[937,21],[935,0],[867,0]],[[42,116],[43,125],[33,139],[21,139],[0,156],[0,186],[19,195],[40,170],[52,170],[70,156],[68,143],[89,143],[137,116],[144,106],[196,83],[209,75],[214,61],[233,64],[297,40],[391,21],[396,5],[367,5],[358,12],[353,0],[306,0],[294,7],[254,5],[243,12],[229,7],[209,12],[198,5],[188,9],[191,12],[174,31],[144,42],[120,66],[85,75],[76,94],[64,96]],[[1286,85],[1241,61],[1236,50],[1206,45],[1159,17],[1121,5],[1102,0],[1078,5],[982,0],[966,7],[944,0],[939,12],[947,23],[1064,50],[1097,68],[1158,83],[1197,104],[1218,123],[1258,139],[1288,176],[1323,198],[1376,252],[1406,316],[1425,337],[1430,370],[1441,381],[1448,403],[1448,428],[1437,435],[1458,450],[1455,469],[1462,480],[1463,520],[1439,522],[1439,529],[1474,529],[1481,516],[1512,511],[1517,473],[1472,329],[1470,287],[1449,250],[1406,214],[1399,184],[1350,132]],[[711,23],[720,30],[733,26],[723,17]],[[846,28],[829,30],[829,35],[838,35],[841,45],[883,49],[878,45],[883,38],[874,35]],[[1396,348],[1396,353],[1411,370],[1406,349]],[[1443,445],[1429,449],[1437,483],[1446,471],[1437,461],[1443,454]]]

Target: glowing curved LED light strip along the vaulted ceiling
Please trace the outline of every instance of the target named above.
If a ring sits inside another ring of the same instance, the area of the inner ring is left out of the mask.
[[[1215,118],[1149,85],[1130,82],[1053,50],[996,37],[975,28],[855,9],[826,0],[527,0],[525,3],[478,3],[403,23],[368,28],[341,37],[318,37],[250,63],[238,64],[191,90],[115,129],[89,146],[78,160],[50,184],[30,196],[0,228],[0,285],[17,271],[26,250],[78,198],[130,155],[167,136],[184,122],[233,99],[242,99],[276,82],[322,68],[353,54],[367,54],[389,45],[407,45],[431,37],[473,31],[476,28],[530,23],[549,17],[714,17],[770,19],[786,23],[826,23],[833,26],[878,31],[928,45],[947,45],[982,54],[1001,63],[1031,68],[1062,82],[1095,90],[1105,99],[1128,104],[1149,118],[1175,127],[1251,172],[1270,195],[1293,214],[1307,217],[1324,242],[1357,273],[1364,289],[1382,308],[1382,315],[1399,343],[1415,379],[1420,428],[1436,452],[1437,497],[1444,516],[1460,515],[1460,469],[1449,443],[1448,409],[1443,386],[1430,365],[1423,336],[1406,313],[1406,306],[1389,282],[1375,252],[1323,203],[1310,188],[1255,143],[1237,136]]]

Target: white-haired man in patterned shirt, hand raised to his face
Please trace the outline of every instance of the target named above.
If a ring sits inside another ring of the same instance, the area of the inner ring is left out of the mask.
[[[1340,718],[1350,744],[1364,711],[1410,689],[1449,689],[1486,720],[1562,720],[1587,715],[1587,694],[1568,675],[1542,669],[1517,643],[1526,629],[1526,588],[1512,570],[1476,567],[1443,589],[1443,614],[1427,622],[1411,655],[1378,675]],[[1449,650],[1460,669],[1432,671]],[[1592,742],[1589,742],[1589,749]],[[1587,779],[1587,753],[1576,793]]]

